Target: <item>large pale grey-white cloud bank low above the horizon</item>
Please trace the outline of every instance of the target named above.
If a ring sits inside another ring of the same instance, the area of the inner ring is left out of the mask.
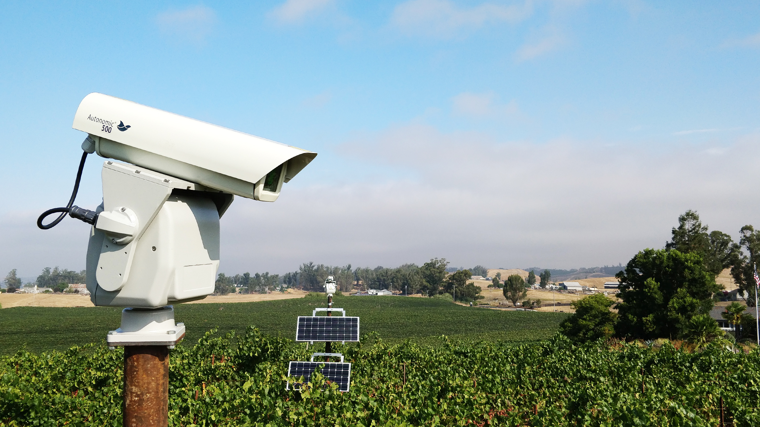
[[[236,198],[221,220],[220,270],[394,267],[432,257],[464,267],[625,263],[661,248],[687,209],[734,238],[760,225],[760,200],[747,197],[760,180],[758,159],[760,134],[720,146],[533,143],[401,125],[321,153],[275,203]],[[315,178],[324,169],[340,178]],[[360,173],[367,169],[371,176]],[[84,268],[87,225],[68,219],[42,231],[37,214],[0,218],[0,271]]]

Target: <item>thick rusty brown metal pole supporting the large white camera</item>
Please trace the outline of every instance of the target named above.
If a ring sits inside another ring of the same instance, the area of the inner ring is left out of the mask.
[[[124,347],[124,427],[169,425],[169,348]]]

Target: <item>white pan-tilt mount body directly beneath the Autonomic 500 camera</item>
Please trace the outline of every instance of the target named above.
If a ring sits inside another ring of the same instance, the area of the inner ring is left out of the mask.
[[[150,169],[104,163],[103,204],[87,247],[92,302],[157,308],[214,293],[219,219],[232,201]]]

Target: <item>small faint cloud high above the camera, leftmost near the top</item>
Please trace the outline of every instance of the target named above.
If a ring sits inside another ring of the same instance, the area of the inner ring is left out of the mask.
[[[214,30],[217,14],[213,9],[203,5],[191,6],[179,11],[165,11],[158,14],[157,24],[163,33],[189,40],[193,43],[203,43]]]

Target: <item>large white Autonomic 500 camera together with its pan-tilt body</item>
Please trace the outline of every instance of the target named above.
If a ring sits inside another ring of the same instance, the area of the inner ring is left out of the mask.
[[[82,100],[73,127],[89,134],[83,148],[94,141],[100,156],[132,163],[103,164],[87,248],[95,305],[160,308],[214,293],[219,219],[233,195],[276,201],[316,157],[101,93]]]

